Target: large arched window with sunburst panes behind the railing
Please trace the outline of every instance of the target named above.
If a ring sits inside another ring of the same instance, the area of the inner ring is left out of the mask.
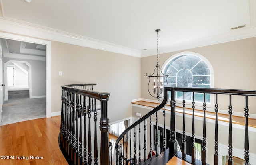
[[[169,87],[213,88],[214,73],[210,62],[194,52],[177,53],[163,65]],[[167,86],[164,80],[164,86]],[[183,100],[183,92],[176,92],[176,98]],[[192,93],[185,93],[185,100],[192,101]],[[203,102],[203,94],[195,93],[195,101]],[[206,94],[206,103],[210,103],[210,94]]]

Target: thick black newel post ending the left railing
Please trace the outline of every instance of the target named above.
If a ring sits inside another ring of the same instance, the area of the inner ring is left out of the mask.
[[[108,98],[109,93],[100,94],[100,164],[109,165],[109,144],[108,144]]]

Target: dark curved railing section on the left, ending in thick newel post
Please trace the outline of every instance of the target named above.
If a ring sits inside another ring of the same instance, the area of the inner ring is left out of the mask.
[[[109,93],[93,91],[96,84],[61,86],[59,145],[69,164],[109,165]],[[98,116],[100,120],[98,121]],[[92,120],[92,121],[91,121]],[[98,137],[100,129],[100,146]]]

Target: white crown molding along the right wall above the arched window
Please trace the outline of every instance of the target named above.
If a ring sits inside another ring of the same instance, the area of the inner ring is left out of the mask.
[[[159,47],[159,54],[192,49],[195,47],[214,45],[218,43],[236,41],[236,40],[252,38],[252,37],[256,37],[256,27],[235,29],[227,33],[221,33],[218,35],[213,35],[209,37],[204,37],[200,39],[194,39],[194,40],[190,40],[182,43],[176,43],[172,45]],[[152,55],[156,55],[156,50],[148,49],[148,50],[142,51],[141,53],[141,57],[148,57]]]

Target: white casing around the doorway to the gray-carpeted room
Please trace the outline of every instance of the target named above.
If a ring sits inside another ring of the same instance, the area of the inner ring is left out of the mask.
[[[30,37],[24,37],[24,36],[20,36],[20,35],[13,35],[13,34],[9,34],[9,33],[2,33],[0,32],[0,38],[3,39],[12,39],[12,40],[16,40],[16,41],[22,41],[22,42],[29,42],[29,43],[37,43],[40,45],[45,45],[45,116],[46,117],[51,117],[51,42],[50,41],[45,41],[45,40],[41,40],[41,39],[34,39],[34,38],[30,38]],[[31,82],[31,81],[30,81]],[[4,91],[5,93],[5,91]],[[5,94],[4,94],[5,95]],[[4,95],[0,96],[2,99],[4,97]],[[32,94],[30,94],[32,95]]]

